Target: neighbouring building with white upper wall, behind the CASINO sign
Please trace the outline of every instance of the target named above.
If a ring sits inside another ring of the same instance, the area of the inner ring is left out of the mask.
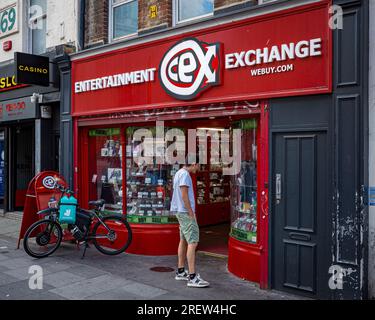
[[[79,5],[75,0],[1,1],[0,198],[5,211],[22,210],[35,174],[63,167],[60,125],[66,113],[60,108],[60,69],[69,63],[67,55],[82,47]],[[16,83],[16,52],[48,56],[50,84]]]

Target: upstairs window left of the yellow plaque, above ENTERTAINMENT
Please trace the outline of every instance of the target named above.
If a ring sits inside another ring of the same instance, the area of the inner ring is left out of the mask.
[[[112,17],[112,39],[116,40],[138,32],[137,0],[112,0],[110,10]]]

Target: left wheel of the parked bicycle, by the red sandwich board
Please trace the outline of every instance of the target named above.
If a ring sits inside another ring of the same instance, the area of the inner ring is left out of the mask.
[[[57,222],[40,220],[27,229],[23,239],[23,248],[29,256],[44,258],[56,251],[62,237],[62,229]]]

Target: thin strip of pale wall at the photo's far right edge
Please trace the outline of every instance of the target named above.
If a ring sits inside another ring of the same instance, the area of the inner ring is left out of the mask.
[[[370,1],[369,184],[375,186],[375,1]],[[375,206],[369,207],[369,298],[375,298]]]

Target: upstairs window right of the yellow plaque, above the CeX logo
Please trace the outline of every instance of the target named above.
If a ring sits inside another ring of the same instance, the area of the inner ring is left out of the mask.
[[[175,0],[176,23],[210,16],[214,11],[213,0]]]

